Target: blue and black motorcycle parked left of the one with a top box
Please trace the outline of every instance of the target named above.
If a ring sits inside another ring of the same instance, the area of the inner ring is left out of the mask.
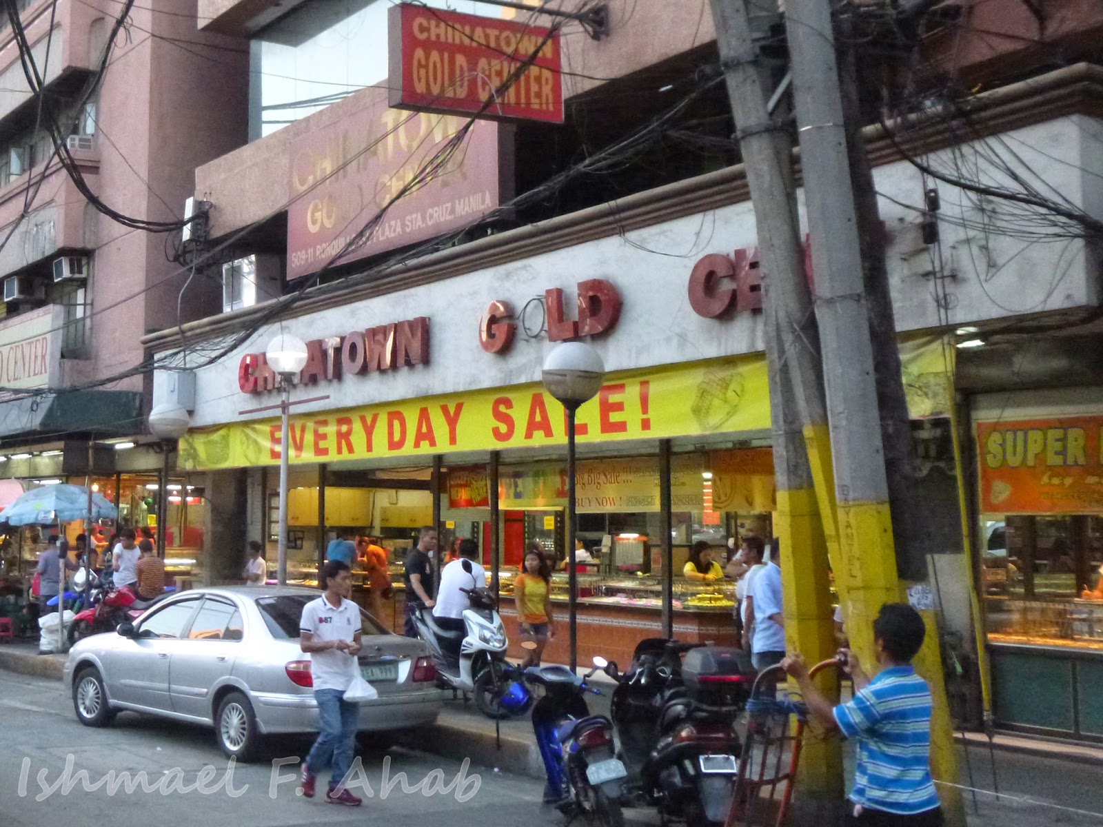
[[[587,692],[601,695],[588,685],[599,668],[579,677],[566,666],[529,666],[525,680],[542,687],[544,697],[533,707],[533,731],[547,772],[544,801],[568,817],[581,816],[589,824],[622,827],[620,796],[624,764],[613,748],[613,724],[601,715],[590,715]]]

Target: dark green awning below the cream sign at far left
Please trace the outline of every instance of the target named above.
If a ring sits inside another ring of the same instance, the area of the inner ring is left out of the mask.
[[[68,390],[54,396],[0,400],[3,439],[129,437],[142,430],[142,395],[136,390]]]

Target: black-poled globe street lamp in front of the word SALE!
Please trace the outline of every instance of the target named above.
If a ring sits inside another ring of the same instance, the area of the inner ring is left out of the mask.
[[[545,389],[567,410],[567,583],[570,624],[570,669],[578,668],[578,572],[575,536],[578,513],[575,502],[575,411],[601,389],[606,366],[593,347],[582,342],[563,342],[544,359]]]

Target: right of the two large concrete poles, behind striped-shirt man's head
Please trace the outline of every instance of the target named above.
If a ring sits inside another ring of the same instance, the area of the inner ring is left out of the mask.
[[[840,547],[835,576],[846,593],[850,640],[870,660],[871,621],[882,603],[898,601],[902,594],[829,0],[789,0],[785,24],[812,236],[816,316],[827,365]],[[932,771],[936,778],[956,784],[938,626],[930,611],[925,615],[929,634],[917,666],[934,698]],[[950,787],[940,792],[949,823],[964,825],[960,793]]]

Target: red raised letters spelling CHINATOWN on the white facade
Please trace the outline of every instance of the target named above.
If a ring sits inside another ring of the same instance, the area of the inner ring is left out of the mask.
[[[307,342],[307,366],[298,384],[317,385],[343,376],[428,364],[429,319],[418,316]],[[243,394],[264,394],[279,387],[279,377],[265,354],[247,353],[238,363],[237,385]]]

